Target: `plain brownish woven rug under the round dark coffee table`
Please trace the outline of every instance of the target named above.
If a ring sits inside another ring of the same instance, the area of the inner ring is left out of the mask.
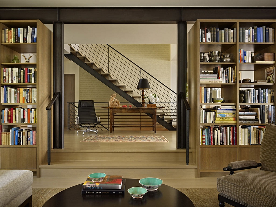
[[[33,207],[42,207],[52,196],[65,188],[33,188]],[[218,206],[217,188],[177,188],[191,199],[195,207]],[[231,207],[225,203],[225,207]]]

